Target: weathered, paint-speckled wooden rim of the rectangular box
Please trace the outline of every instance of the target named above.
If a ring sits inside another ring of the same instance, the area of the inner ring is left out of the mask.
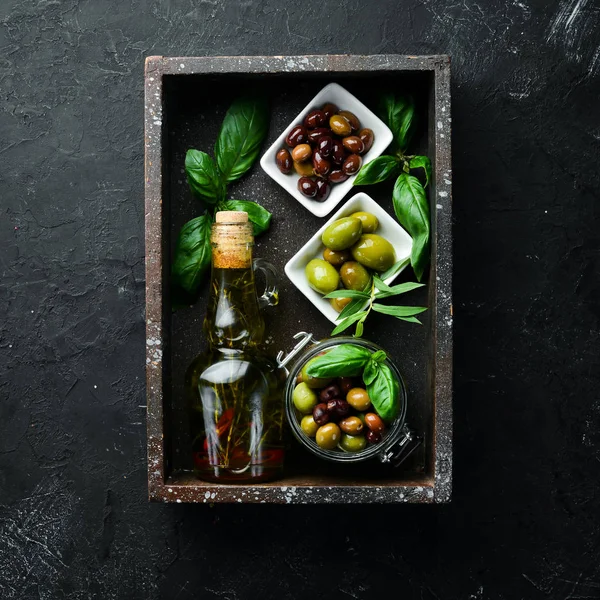
[[[430,189],[432,263],[430,307],[433,351],[429,364],[433,394],[430,475],[402,485],[294,480],[261,485],[216,485],[193,477],[170,478],[165,472],[164,419],[168,364],[163,360],[170,310],[165,306],[168,239],[163,197],[163,151],[168,124],[163,122],[164,80],[202,74],[331,73],[429,71],[433,93],[429,106],[429,146],[433,162]],[[145,203],[148,491],[163,502],[369,503],[448,502],[452,485],[452,193],[450,59],[447,56],[242,56],[161,57],[146,59]]]

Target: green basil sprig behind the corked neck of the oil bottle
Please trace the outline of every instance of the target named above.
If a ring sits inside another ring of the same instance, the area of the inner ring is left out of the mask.
[[[254,164],[269,130],[266,101],[255,96],[238,98],[229,107],[217,141],[215,159],[190,148],[185,156],[185,172],[190,189],[207,207],[204,214],[188,221],[179,232],[171,266],[174,297],[195,296],[210,266],[210,229],[214,212],[243,210],[252,222],[254,235],[264,233],[271,213],[248,200],[227,200],[227,186],[238,180]],[[180,293],[183,292],[183,293]]]

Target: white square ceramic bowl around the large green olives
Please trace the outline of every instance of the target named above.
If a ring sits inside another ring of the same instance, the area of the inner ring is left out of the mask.
[[[331,306],[329,300],[325,300],[321,294],[315,292],[306,280],[304,269],[306,265],[313,258],[323,258],[323,250],[325,246],[321,242],[321,235],[325,229],[342,217],[349,217],[352,213],[357,211],[365,211],[374,214],[379,221],[379,228],[376,233],[381,235],[388,240],[396,254],[396,262],[403,260],[410,256],[412,248],[412,238],[396,221],[394,217],[389,215],[375,200],[373,200],[367,194],[359,192],[354,195],[344,206],[342,206],[336,213],[319,229],[315,235],[294,254],[294,256],[285,265],[285,274],[289,277],[291,282],[332,322],[335,323],[338,317],[338,312]],[[406,268],[406,267],[405,267]],[[385,280],[388,285],[396,279],[399,273],[404,269],[401,269]],[[366,304],[366,302],[365,302]]]

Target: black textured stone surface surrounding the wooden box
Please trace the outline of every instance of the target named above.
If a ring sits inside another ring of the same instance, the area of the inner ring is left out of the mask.
[[[2,599],[600,597],[595,0],[0,3]],[[453,58],[447,506],[146,500],[143,62]]]

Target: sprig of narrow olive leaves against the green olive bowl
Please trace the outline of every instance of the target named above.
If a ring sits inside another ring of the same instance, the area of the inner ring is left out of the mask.
[[[381,275],[373,275],[373,280],[369,284],[369,287],[365,290],[335,290],[323,296],[324,298],[352,298],[352,300],[344,307],[344,309],[338,315],[340,321],[336,328],[331,332],[331,335],[337,335],[348,329],[351,325],[356,323],[356,330],[354,337],[361,337],[364,332],[364,324],[371,311],[375,311],[384,315],[391,315],[401,321],[407,321],[409,323],[421,324],[421,321],[416,318],[418,315],[427,310],[425,306],[388,306],[386,304],[380,304],[377,300],[383,300],[384,298],[391,298],[393,296],[399,296],[405,294],[417,288],[423,287],[424,283],[415,283],[409,281],[407,283],[400,283],[393,287],[390,287],[385,283],[385,280],[392,275],[398,273],[403,267],[409,262],[409,259],[398,261],[392,267],[390,267]],[[366,308],[363,308],[366,304]]]

